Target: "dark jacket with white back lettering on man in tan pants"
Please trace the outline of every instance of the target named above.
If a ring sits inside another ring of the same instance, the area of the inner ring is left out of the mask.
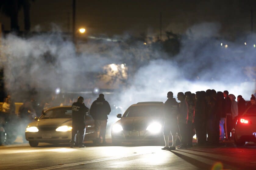
[[[107,120],[111,108],[104,98],[98,98],[91,104],[90,114],[94,120]]]

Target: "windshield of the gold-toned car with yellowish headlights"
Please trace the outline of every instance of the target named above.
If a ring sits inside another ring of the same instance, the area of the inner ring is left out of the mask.
[[[71,108],[51,109],[45,112],[40,119],[72,118]]]

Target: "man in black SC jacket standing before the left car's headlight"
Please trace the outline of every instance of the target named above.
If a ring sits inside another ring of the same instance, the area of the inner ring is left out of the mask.
[[[85,135],[85,116],[88,108],[84,105],[84,98],[78,97],[77,102],[72,104],[72,138],[70,147],[73,148],[76,142],[76,135],[79,134],[78,145],[84,148],[84,135]]]

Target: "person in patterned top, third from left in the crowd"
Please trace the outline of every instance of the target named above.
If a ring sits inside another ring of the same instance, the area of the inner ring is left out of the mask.
[[[187,112],[187,147],[193,146],[193,129],[194,129],[194,118],[195,118],[195,103],[193,100],[192,94],[188,94],[186,96],[186,102],[188,105],[188,112]]]

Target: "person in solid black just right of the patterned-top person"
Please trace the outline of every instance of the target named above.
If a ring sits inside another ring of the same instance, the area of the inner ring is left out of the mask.
[[[197,145],[203,145],[206,142],[205,131],[205,100],[202,92],[196,92],[195,102],[195,131],[197,135]]]

